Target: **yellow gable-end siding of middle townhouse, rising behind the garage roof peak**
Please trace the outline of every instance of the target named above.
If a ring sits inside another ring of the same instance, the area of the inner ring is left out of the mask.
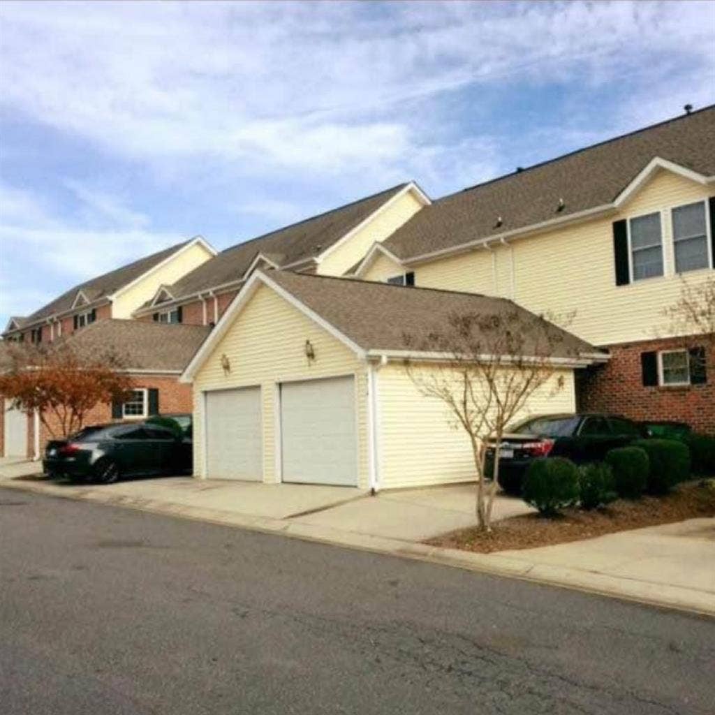
[[[361,260],[375,242],[384,241],[422,208],[412,192],[401,194],[368,221],[345,242],[327,252],[317,265],[320,275],[343,275]]]

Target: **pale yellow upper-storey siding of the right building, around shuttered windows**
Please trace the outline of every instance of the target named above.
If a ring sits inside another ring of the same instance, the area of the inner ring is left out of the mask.
[[[674,274],[671,208],[713,194],[711,187],[661,169],[618,212],[514,239],[513,293],[508,246],[495,246],[494,258],[489,250],[479,248],[420,263],[414,267],[415,283],[511,297],[528,310],[555,317],[568,318],[575,311],[570,320],[557,322],[594,345],[673,337],[669,321],[662,315],[681,291]],[[613,222],[654,211],[662,217],[665,275],[616,286]],[[713,271],[706,269],[687,272],[684,278],[697,285],[711,275]]]

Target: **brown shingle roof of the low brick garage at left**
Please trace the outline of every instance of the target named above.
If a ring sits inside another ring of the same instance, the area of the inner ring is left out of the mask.
[[[180,372],[209,332],[203,325],[107,319],[93,322],[57,344],[82,355],[117,356],[127,370]]]

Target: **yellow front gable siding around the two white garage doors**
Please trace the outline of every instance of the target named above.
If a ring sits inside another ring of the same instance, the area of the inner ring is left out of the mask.
[[[310,340],[316,359],[310,366],[305,341]],[[230,360],[225,375],[221,355]],[[263,480],[275,483],[277,385],[292,380],[355,375],[358,423],[359,485],[368,488],[367,373],[352,350],[277,295],[270,287],[258,287],[235,318],[226,335],[204,361],[194,379],[194,475],[204,474],[203,392],[260,385],[263,417]]]

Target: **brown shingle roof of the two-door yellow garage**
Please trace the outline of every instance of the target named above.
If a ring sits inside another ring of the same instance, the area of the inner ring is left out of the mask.
[[[445,329],[450,315],[506,315],[516,311],[533,315],[506,298],[476,293],[460,293],[432,288],[403,287],[353,278],[305,275],[289,271],[265,274],[349,337],[363,350],[408,350],[430,332]],[[561,333],[563,342],[554,357],[573,358],[578,353],[599,351],[570,332]]]

